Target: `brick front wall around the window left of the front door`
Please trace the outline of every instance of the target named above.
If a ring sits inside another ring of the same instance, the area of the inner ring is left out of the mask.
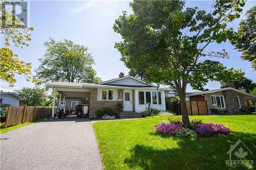
[[[118,99],[123,99],[123,90],[118,89]],[[123,101],[97,101],[97,88],[91,88],[90,91],[90,111],[89,117],[94,117],[96,110],[102,107],[115,107],[118,103],[123,106]]]

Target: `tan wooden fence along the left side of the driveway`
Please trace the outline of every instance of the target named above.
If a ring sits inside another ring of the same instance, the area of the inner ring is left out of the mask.
[[[56,110],[56,109],[55,109]],[[5,126],[23,124],[25,122],[35,121],[43,118],[49,118],[52,115],[52,107],[36,106],[8,106]]]

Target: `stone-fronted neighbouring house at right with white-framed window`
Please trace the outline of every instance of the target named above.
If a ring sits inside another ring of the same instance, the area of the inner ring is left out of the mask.
[[[250,106],[250,100],[256,100],[256,96],[247,93],[244,88],[236,89],[232,82],[221,83],[220,89],[205,90],[186,95],[187,101],[206,101],[208,113],[211,108],[227,110],[230,114],[237,113],[240,109]]]

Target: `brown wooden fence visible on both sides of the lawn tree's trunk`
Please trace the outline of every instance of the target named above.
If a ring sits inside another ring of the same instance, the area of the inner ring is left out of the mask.
[[[186,101],[188,115],[207,115],[208,108],[206,101]],[[179,103],[167,103],[166,110],[181,114]]]

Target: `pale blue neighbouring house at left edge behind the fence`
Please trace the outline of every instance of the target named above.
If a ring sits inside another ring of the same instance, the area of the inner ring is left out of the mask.
[[[20,100],[25,100],[14,92],[0,92],[0,110],[7,108],[8,105],[18,106]]]

